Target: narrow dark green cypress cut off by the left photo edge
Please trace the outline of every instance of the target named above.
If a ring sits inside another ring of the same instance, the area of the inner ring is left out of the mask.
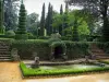
[[[0,0],[0,34],[3,34],[3,1]]]

